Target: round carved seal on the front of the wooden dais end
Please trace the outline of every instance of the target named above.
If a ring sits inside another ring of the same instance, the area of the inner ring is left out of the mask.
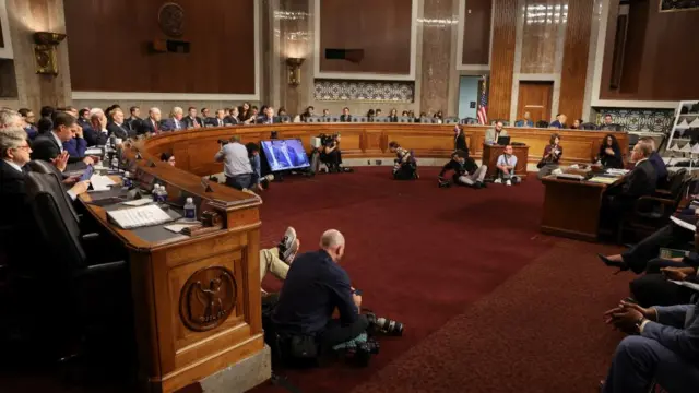
[[[205,332],[226,321],[236,303],[236,279],[223,266],[194,272],[179,296],[179,314],[185,326]]]

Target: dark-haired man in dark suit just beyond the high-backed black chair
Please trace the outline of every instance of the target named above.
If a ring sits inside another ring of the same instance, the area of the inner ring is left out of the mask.
[[[56,112],[54,116],[54,130],[38,135],[32,144],[32,159],[42,159],[54,163],[63,154],[63,142],[68,142],[75,136],[75,128],[79,127],[74,117],[66,112]],[[94,164],[93,157],[69,157],[68,164],[84,163]],[[84,168],[84,165],[73,165],[71,169]]]

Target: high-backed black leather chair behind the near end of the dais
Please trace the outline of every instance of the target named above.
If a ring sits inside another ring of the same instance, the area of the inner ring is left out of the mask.
[[[57,343],[70,336],[73,338],[69,341],[84,342],[91,332],[116,329],[105,335],[112,340],[114,334],[118,334],[119,330],[125,332],[123,329],[131,324],[131,293],[126,261],[109,259],[110,255],[105,251],[110,250],[100,250],[102,258],[85,251],[80,223],[63,196],[66,192],[62,184],[52,175],[28,172],[25,186],[35,236],[43,246],[33,260],[29,277],[25,278],[35,284],[25,286],[33,288],[28,295],[39,296],[43,303],[48,299],[49,305],[45,305],[45,309],[56,313],[59,318],[57,321],[60,321],[52,329],[58,334],[55,337]],[[95,330],[96,325],[102,329]],[[126,332],[131,331],[127,327]],[[61,354],[61,362],[82,357],[80,349],[74,352],[74,344],[69,347],[71,352]]]

